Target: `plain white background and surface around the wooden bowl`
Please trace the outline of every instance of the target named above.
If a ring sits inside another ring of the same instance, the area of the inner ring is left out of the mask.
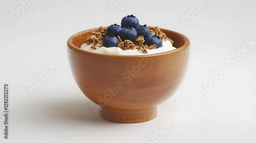
[[[191,11],[199,2],[36,0],[22,11],[19,1],[1,1],[0,142],[256,142],[255,42],[243,50],[246,39],[256,41],[256,2],[205,0],[197,13]],[[12,18],[17,8],[20,14]],[[139,124],[112,123],[95,114],[95,104],[72,77],[66,53],[71,35],[120,24],[128,14],[191,42],[181,86],[158,106],[154,120]],[[189,21],[182,14],[190,14]],[[27,84],[51,62],[58,66],[30,92]],[[205,80],[214,79],[212,72],[222,66],[228,71],[200,96],[198,89],[205,90]],[[9,83],[9,139],[3,134],[4,83]],[[172,127],[161,133],[164,123]],[[150,136],[155,141],[146,141]]]

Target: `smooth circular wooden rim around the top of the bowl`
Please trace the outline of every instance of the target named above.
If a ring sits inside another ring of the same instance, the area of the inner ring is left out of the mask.
[[[107,27],[102,27],[102,28],[107,28]],[[154,28],[154,27],[150,27],[150,28]],[[107,57],[155,57],[155,56],[168,55],[168,54],[172,54],[172,53],[177,53],[179,51],[183,51],[190,44],[189,39],[185,35],[183,35],[179,32],[176,32],[176,31],[167,30],[167,29],[163,29],[163,28],[160,28],[160,29],[164,30],[164,31],[169,31],[169,32],[172,32],[172,33],[176,33],[177,35],[180,35],[181,37],[183,37],[185,43],[182,46],[180,46],[179,48],[176,48],[175,50],[162,52],[162,53],[156,53],[156,54],[149,54],[149,55],[107,55],[107,54],[94,53],[94,52],[89,52],[89,51],[86,51],[86,50],[82,50],[82,49],[80,49],[80,47],[77,47],[76,45],[73,44],[73,39],[76,36],[81,35],[81,34],[86,33],[86,32],[96,31],[98,29],[99,28],[84,30],[84,31],[81,31],[81,32],[78,32],[78,33],[72,35],[67,41],[67,45],[68,45],[69,49],[71,49],[75,52],[81,53],[81,54],[88,54],[88,55],[92,55],[92,56],[94,55],[94,56],[107,56]]]

